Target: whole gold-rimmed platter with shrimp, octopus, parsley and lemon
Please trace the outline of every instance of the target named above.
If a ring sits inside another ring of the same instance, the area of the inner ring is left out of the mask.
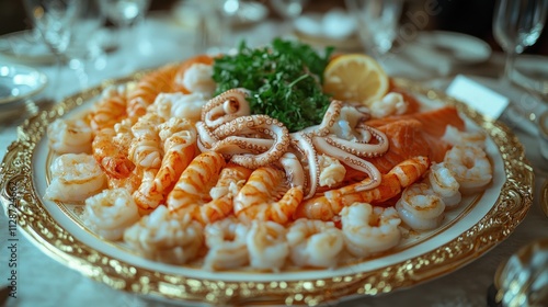
[[[412,287],[495,247],[533,200],[501,123],[366,55],[283,39],[65,99],[20,128],[0,183],[54,259],[209,305]]]

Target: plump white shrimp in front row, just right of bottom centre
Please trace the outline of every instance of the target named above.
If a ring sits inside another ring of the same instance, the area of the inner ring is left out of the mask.
[[[334,268],[344,236],[332,221],[299,218],[287,230],[289,258],[298,266]]]

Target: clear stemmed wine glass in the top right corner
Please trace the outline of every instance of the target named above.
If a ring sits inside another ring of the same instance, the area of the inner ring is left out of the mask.
[[[506,54],[502,82],[511,83],[515,57],[534,45],[543,32],[548,0],[498,0],[494,8],[494,38]]]

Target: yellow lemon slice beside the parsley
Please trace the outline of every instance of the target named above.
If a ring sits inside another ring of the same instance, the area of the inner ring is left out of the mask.
[[[366,55],[339,56],[323,71],[323,91],[336,100],[368,105],[385,96],[388,88],[388,76],[383,67]]]

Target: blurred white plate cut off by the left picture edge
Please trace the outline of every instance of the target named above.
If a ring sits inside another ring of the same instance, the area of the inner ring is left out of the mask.
[[[0,64],[0,109],[37,94],[46,84],[46,75],[32,67]]]

